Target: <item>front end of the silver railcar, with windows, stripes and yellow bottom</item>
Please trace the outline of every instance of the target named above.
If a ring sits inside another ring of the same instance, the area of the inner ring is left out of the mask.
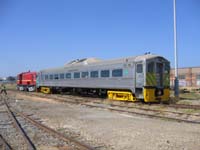
[[[168,101],[170,95],[170,63],[162,58],[146,60],[146,80],[143,94],[145,102]]]

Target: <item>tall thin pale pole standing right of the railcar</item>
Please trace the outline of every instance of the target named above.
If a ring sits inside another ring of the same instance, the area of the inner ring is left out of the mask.
[[[176,0],[173,0],[174,7],[174,57],[175,57],[175,79],[174,79],[174,96],[179,98],[179,81],[178,81],[178,52],[176,36]]]

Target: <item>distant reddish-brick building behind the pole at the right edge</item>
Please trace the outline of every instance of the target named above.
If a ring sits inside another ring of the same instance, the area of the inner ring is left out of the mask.
[[[174,87],[175,69],[170,71],[170,85]],[[200,87],[200,67],[178,68],[180,87]]]

